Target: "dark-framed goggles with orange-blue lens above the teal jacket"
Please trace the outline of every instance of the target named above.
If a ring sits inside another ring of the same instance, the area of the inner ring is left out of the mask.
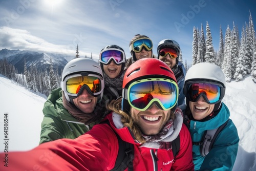
[[[220,102],[225,88],[219,83],[188,82],[184,84],[184,95],[189,101],[196,102],[201,96],[208,104]]]

